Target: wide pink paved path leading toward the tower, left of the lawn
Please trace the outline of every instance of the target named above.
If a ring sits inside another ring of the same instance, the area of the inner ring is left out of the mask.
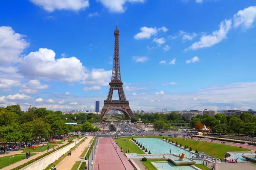
[[[125,170],[110,138],[99,138],[93,170]]]

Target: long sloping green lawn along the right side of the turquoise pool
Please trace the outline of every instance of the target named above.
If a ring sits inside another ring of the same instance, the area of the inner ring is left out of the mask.
[[[204,153],[208,153],[209,155],[213,155],[218,158],[224,158],[225,152],[236,152],[236,151],[250,151],[250,149],[239,148],[236,146],[229,146],[226,144],[216,144],[212,142],[195,142],[193,139],[183,140],[183,138],[175,138],[171,139],[173,142],[178,142],[178,144],[182,144],[182,146],[192,147],[192,150],[198,150]]]

